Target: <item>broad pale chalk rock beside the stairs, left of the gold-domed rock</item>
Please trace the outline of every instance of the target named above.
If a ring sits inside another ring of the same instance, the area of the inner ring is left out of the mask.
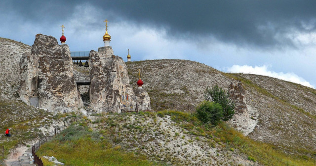
[[[22,101],[30,104],[30,97],[35,96],[40,108],[59,112],[83,107],[68,45],[58,45],[56,38],[37,34],[31,52],[20,59],[18,92]]]

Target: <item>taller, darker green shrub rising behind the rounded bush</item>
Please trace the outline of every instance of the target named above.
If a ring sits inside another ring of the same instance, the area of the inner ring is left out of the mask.
[[[208,101],[219,103],[223,108],[222,120],[227,121],[235,114],[235,103],[229,98],[229,93],[216,84],[214,87],[207,87],[204,97]]]

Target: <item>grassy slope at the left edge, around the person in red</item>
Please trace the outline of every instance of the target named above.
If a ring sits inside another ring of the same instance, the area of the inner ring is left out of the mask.
[[[27,106],[16,100],[0,98],[0,146],[4,145],[4,156],[18,145],[27,145],[34,139],[43,137],[39,128],[52,122],[52,113]],[[6,129],[11,128],[11,137],[5,137]]]

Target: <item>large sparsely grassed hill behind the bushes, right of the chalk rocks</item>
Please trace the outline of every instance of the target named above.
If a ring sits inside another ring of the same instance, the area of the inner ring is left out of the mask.
[[[284,152],[316,157],[316,90],[296,83],[250,74],[227,74],[204,64],[176,59],[127,62],[130,83],[141,69],[143,88],[156,103],[197,105],[207,86],[225,89],[234,80],[245,89],[244,102],[257,123],[249,137],[275,145]],[[232,120],[234,122],[234,119]],[[234,128],[238,124],[230,123]]]

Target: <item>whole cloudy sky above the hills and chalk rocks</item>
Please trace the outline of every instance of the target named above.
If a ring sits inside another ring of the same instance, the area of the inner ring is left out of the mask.
[[[132,61],[188,59],[316,87],[315,0],[0,0],[0,37],[32,45],[42,33],[71,51],[104,46]]]

